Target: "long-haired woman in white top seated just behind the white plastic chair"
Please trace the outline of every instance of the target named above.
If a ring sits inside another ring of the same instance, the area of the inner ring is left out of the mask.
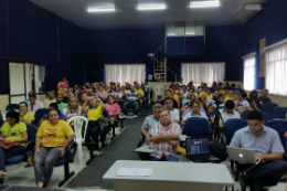
[[[76,97],[71,96],[68,98],[67,106],[63,108],[63,114],[65,115],[66,120],[75,116],[81,116],[82,108],[78,105],[78,100]]]

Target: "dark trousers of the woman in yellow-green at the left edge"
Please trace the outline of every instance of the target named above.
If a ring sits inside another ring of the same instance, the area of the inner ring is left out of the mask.
[[[10,149],[3,149],[0,147],[0,171],[6,172],[6,160],[15,156],[21,156],[24,153],[23,146],[11,147]],[[0,183],[3,183],[3,179],[0,179]]]

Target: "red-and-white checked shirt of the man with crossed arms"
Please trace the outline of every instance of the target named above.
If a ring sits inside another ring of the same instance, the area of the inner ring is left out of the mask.
[[[161,126],[160,123],[157,123],[153,125],[151,135],[158,136],[158,135],[169,135],[169,134],[176,134],[179,137],[181,136],[181,128],[180,125],[171,123],[168,129]],[[157,157],[158,159],[161,159],[164,155],[166,158],[169,157],[178,157],[177,150],[173,148],[172,145],[168,142],[152,142],[151,149],[155,150],[153,153],[151,153],[152,157]]]

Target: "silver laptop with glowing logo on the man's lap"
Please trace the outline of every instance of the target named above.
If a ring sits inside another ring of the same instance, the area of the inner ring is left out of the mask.
[[[255,160],[255,153],[253,150],[243,149],[237,147],[226,146],[231,160],[235,160],[241,163],[257,165]]]

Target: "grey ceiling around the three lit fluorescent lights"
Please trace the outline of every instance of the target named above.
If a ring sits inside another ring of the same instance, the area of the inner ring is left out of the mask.
[[[206,25],[242,24],[236,15],[246,3],[266,0],[221,0],[219,8],[190,9],[191,0],[30,0],[84,29],[164,28],[167,22],[204,21]],[[166,3],[167,10],[138,11],[140,3]],[[89,7],[115,4],[116,11],[88,13]]]

